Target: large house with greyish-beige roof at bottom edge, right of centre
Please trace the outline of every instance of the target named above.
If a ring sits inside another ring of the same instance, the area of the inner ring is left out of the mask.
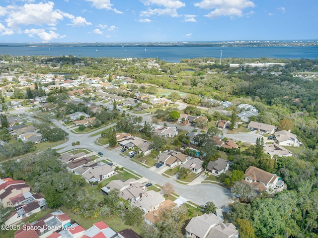
[[[219,221],[214,213],[193,217],[185,227],[187,238],[238,238],[239,231],[232,223]]]

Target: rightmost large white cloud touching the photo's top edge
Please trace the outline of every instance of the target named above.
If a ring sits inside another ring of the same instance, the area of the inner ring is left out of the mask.
[[[194,3],[194,6],[203,9],[214,9],[206,14],[206,17],[217,18],[220,16],[243,16],[243,10],[248,7],[254,7],[251,0],[202,0]]]

